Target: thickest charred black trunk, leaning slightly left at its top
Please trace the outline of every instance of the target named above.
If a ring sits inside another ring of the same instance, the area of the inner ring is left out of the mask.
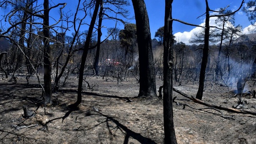
[[[132,0],[139,49],[140,89],[138,96],[156,96],[155,68],[148,12],[144,0]]]

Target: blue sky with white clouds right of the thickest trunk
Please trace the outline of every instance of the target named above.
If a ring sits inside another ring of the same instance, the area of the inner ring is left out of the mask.
[[[149,20],[151,35],[154,37],[156,30],[164,25],[164,0],[159,2],[152,2],[152,0],[145,0]],[[208,0],[210,9],[218,10],[221,7],[229,5],[229,10],[236,10],[241,0]],[[244,3],[245,5],[245,3]],[[243,5],[243,6],[244,6]],[[206,11],[205,0],[174,0],[172,4],[172,17],[196,25],[201,25],[205,22],[204,12]],[[201,16],[197,18],[198,16]],[[235,25],[242,25],[244,32],[247,34],[247,27],[251,25],[246,14],[241,10],[235,15]],[[210,24],[215,25],[215,18],[210,19]],[[193,26],[186,26],[179,22],[173,23],[173,33],[178,41],[189,44],[189,39],[194,37],[194,32],[198,32],[201,28]],[[152,38],[153,38],[152,37]]]

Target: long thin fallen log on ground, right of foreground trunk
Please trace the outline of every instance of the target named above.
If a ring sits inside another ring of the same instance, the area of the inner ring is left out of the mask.
[[[251,115],[254,115],[256,116],[256,112],[253,112],[253,111],[247,111],[247,110],[238,110],[238,109],[235,109],[235,108],[228,108],[228,107],[223,107],[223,106],[216,106],[216,105],[213,105],[213,104],[210,104],[210,103],[206,103],[202,100],[199,100],[197,98],[194,98],[193,96],[188,96],[187,94],[175,89],[175,88],[172,88],[173,91],[177,92],[178,94],[186,97],[186,98],[189,98],[190,100],[196,102],[196,103],[199,103],[201,105],[204,105],[204,106],[208,106],[208,107],[213,107],[213,108],[217,108],[218,110],[224,110],[224,111],[228,111],[228,112],[233,112],[233,113],[242,113],[242,114],[251,114]]]

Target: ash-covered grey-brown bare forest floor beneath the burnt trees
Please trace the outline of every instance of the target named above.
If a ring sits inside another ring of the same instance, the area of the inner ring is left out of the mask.
[[[0,80],[0,143],[1,144],[163,144],[163,104],[159,98],[134,98],[139,84],[128,78],[117,85],[112,79],[105,81],[93,77],[89,83],[94,90],[83,90],[78,110],[67,105],[76,101],[78,80],[68,80],[53,94],[53,105],[40,104],[41,89],[35,76],[26,85],[25,75],[17,76],[17,84]],[[75,78],[75,76],[74,76]],[[162,81],[156,80],[157,87]],[[254,81],[247,82],[247,89],[254,90]],[[61,85],[61,84],[60,84]],[[203,101],[232,107],[237,97],[225,98],[206,84]],[[232,96],[227,87],[215,85],[225,96]],[[187,95],[195,96],[198,83],[174,84]],[[206,108],[174,92],[176,102],[194,108]],[[133,102],[127,102],[130,98]],[[244,109],[256,111],[256,98],[243,97],[249,104]],[[22,117],[22,105],[35,113]],[[256,116],[212,109],[194,110],[174,103],[174,124],[178,144],[256,144]],[[17,130],[19,129],[19,130]]]

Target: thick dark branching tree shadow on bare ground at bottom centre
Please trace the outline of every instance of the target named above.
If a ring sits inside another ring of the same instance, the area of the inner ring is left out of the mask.
[[[112,134],[112,132],[111,132],[110,125],[109,125],[108,121],[114,122],[117,125],[118,129],[126,132],[126,136],[124,138],[123,144],[128,144],[129,137],[132,137],[133,139],[138,140],[138,142],[140,142],[142,144],[156,144],[156,142],[154,142],[150,138],[143,137],[141,134],[133,132],[132,130],[128,129],[126,126],[121,124],[117,119],[114,119],[112,116],[107,116],[98,111],[95,111],[95,112],[97,112],[97,114],[95,114],[95,115],[106,117],[106,121],[104,121],[104,122],[106,122],[107,127],[109,128],[108,130],[110,131],[111,134]],[[86,113],[86,116],[91,116],[91,115],[94,115],[94,114],[92,114],[90,112]],[[104,122],[101,122],[101,123],[104,123]],[[99,126],[101,123],[97,124],[95,127]]]

